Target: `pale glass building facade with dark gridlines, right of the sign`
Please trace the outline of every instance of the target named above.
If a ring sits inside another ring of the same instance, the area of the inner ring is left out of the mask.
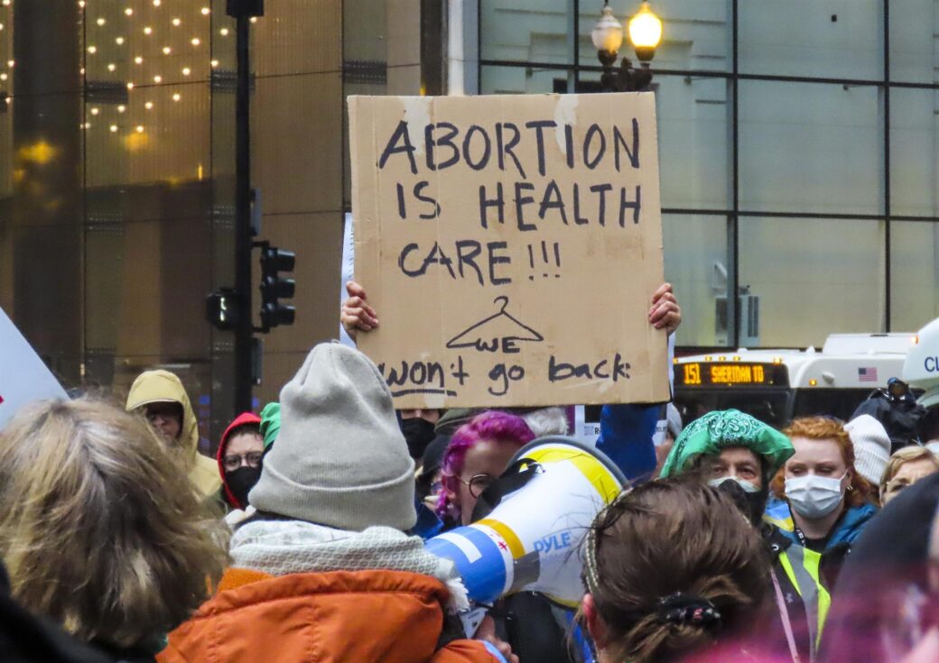
[[[639,8],[609,5],[623,23]],[[679,345],[820,346],[939,315],[939,3],[652,5]],[[596,91],[601,7],[480,0],[480,92]]]

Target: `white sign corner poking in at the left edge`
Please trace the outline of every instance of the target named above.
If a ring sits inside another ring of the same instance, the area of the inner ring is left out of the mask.
[[[0,430],[23,405],[67,398],[62,385],[0,309]]]

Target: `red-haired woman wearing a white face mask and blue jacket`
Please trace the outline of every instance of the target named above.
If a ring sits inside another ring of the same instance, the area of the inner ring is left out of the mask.
[[[825,566],[837,573],[877,513],[870,503],[874,491],[854,469],[854,446],[838,420],[804,417],[783,432],[795,454],[773,479],[781,502],[770,505],[767,516],[796,543],[824,553]]]

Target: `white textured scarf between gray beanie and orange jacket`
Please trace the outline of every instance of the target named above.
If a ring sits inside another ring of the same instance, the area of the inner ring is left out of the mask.
[[[346,532],[302,520],[254,520],[232,536],[231,555],[235,566],[271,576],[381,569],[418,573],[447,586],[449,612],[469,610],[454,563],[423,550],[419,536],[391,527]]]

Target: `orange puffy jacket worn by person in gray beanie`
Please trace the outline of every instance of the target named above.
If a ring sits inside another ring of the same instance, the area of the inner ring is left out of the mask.
[[[447,596],[439,580],[401,571],[274,577],[233,568],[157,661],[495,663],[475,640],[436,649]]]

